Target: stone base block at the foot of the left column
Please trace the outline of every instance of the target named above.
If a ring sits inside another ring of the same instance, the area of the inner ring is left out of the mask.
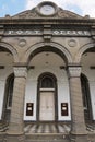
[[[25,134],[8,134],[7,142],[25,142]]]

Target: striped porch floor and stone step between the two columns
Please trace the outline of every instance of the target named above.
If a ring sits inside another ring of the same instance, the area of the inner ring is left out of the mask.
[[[70,125],[28,123],[25,125],[26,142],[69,142]]]

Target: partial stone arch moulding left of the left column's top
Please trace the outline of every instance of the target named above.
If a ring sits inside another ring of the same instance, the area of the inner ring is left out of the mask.
[[[19,62],[17,51],[14,49],[12,45],[4,42],[0,42],[0,46],[7,48],[13,55],[14,62]]]

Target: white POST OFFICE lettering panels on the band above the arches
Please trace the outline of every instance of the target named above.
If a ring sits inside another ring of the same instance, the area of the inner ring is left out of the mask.
[[[4,32],[4,35],[43,35],[44,31],[40,29],[9,29]],[[88,31],[74,31],[74,29],[52,29],[51,35],[54,36],[91,36]]]

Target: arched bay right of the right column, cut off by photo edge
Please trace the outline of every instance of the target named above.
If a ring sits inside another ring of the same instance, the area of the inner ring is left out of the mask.
[[[95,64],[94,44],[83,46],[80,49],[78,57],[82,63],[82,72],[87,76],[86,78],[84,74],[81,75],[84,117],[85,120],[87,121],[94,119],[94,102],[93,102],[94,91],[92,92],[92,83],[91,83],[93,82],[94,79],[94,70],[92,70],[92,67],[94,67]]]

